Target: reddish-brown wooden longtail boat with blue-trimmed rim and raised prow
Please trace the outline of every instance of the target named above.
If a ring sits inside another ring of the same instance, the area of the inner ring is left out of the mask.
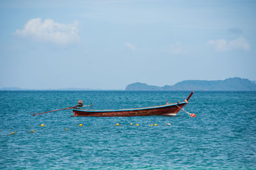
[[[147,108],[133,108],[124,110],[82,110],[74,109],[73,117],[145,117],[153,115],[175,116],[182,107],[188,104],[188,100],[193,95],[193,91],[188,98],[183,102],[172,103],[168,102],[161,106],[152,106]]]

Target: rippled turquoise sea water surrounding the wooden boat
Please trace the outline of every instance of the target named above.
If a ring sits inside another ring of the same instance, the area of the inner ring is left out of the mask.
[[[195,118],[184,111],[176,117],[31,115],[78,100],[95,110],[138,108],[184,101],[189,93],[0,91],[0,169],[256,169],[256,92],[195,92],[185,107]]]

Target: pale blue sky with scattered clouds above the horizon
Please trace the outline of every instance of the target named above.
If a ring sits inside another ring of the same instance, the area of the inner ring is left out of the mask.
[[[256,80],[256,1],[0,1],[0,88]]]

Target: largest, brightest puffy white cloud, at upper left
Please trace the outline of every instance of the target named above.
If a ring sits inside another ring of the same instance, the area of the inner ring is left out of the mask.
[[[59,45],[80,41],[77,21],[73,24],[61,24],[52,19],[33,18],[26,22],[22,30],[17,29],[15,35]]]

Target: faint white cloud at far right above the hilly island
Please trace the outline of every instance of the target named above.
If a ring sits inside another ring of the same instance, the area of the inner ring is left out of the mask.
[[[226,39],[215,39],[207,42],[208,45],[214,46],[217,52],[227,52],[231,50],[249,51],[250,45],[243,37],[226,41]]]

